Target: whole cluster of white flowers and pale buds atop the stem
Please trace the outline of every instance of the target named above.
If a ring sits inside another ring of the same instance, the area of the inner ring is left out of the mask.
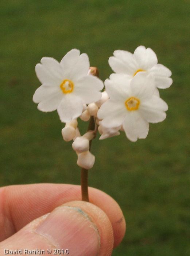
[[[158,89],[170,87],[171,71],[158,64],[152,49],[139,46],[133,54],[116,50],[109,65],[114,73],[105,83],[97,77],[97,68],[90,67],[88,55],[77,49],[70,50],[60,63],[43,57],[35,68],[42,85],[35,91],[33,101],[43,112],[57,110],[65,123],[63,139],[74,141],[77,164],[84,169],[94,164],[90,145],[98,131],[100,139],[124,131],[129,140],[136,142],[147,137],[149,123],[166,118],[168,106]],[[90,120],[88,131],[82,136],[77,118]]]

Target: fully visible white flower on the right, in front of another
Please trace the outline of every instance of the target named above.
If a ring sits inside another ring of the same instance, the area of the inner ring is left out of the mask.
[[[155,94],[154,78],[139,72],[131,80],[125,74],[112,74],[105,80],[109,95],[98,110],[101,125],[113,129],[122,125],[127,138],[135,142],[146,138],[148,123],[158,123],[166,118],[166,102]]]

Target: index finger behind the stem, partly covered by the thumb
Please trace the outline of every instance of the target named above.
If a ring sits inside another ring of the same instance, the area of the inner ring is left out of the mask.
[[[123,239],[125,220],[116,201],[106,193],[89,188],[90,202],[108,215],[114,233],[114,247]],[[81,200],[81,187],[69,184],[13,185],[0,188],[0,241],[32,220],[61,204]]]

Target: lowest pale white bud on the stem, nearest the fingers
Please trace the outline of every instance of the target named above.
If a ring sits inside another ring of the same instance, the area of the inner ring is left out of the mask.
[[[88,170],[93,167],[94,162],[95,162],[95,157],[93,154],[90,153],[90,151],[85,151],[78,154],[78,160],[77,160],[78,166]]]

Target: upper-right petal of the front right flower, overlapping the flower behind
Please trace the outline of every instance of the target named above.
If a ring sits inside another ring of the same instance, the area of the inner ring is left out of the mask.
[[[154,77],[146,72],[138,72],[131,80],[131,90],[139,99],[150,98],[156,89]]]

